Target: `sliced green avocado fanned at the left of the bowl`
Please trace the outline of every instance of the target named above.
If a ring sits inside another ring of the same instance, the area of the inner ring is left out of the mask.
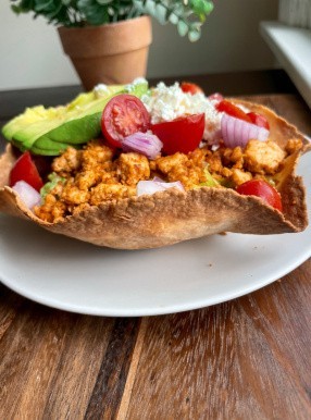
[[[2,134],[22,151],[58,156],[69,146],[79,147],[100,135],[102,110],[113,96],[128,92],[140,97],[147,90],[145,81],[132,85],[99,85],[66,106],[26,109],[4,125]]]

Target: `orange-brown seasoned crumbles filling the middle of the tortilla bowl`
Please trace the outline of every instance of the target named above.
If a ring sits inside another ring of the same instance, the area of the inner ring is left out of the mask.
[[[47,222],[59,222],[70,214],[136,196],[139,181],[159,176],[166,182],[179,181],[186,190],[207,185],[208,173],[217,187],[232,187],[258,177],[272,177],[283,168],[284,159],[302,147],[300,139],[288,140],[285,150],[274,141],[250,140],[245,149],[216,150],[203,147],[188,155],[148,160],[136,152],[117,152],[101,140],[89,141],[84,149],[69,147],[52,162],[59,182],[46,195],[35,213]]]

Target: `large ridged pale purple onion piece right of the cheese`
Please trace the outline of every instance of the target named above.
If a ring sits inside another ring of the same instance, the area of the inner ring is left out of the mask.
[[[232,149],[236,146],[245,147],[251,139],[265,141],[270,134],[269,129],[264,127],[226,113],[222,118],[221,127],[224,144]]]

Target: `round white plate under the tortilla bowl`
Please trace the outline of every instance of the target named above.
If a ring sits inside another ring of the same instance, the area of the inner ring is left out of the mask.
[[[308,189],[311,153],[298,172]],[[53,308],[114,317],[208,307],[253,292],[311,255],[311,227],[299,234],[214,235],[161,249],[100,248],[5,215],[0,218],[0,279]]]

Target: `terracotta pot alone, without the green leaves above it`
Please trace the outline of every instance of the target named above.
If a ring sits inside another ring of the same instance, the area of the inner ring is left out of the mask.
[[[64,52],[70,55],[86,90],[104,83],[126,84],[146,76],[152,40],[149,16],[102,26],[59,27]]]

